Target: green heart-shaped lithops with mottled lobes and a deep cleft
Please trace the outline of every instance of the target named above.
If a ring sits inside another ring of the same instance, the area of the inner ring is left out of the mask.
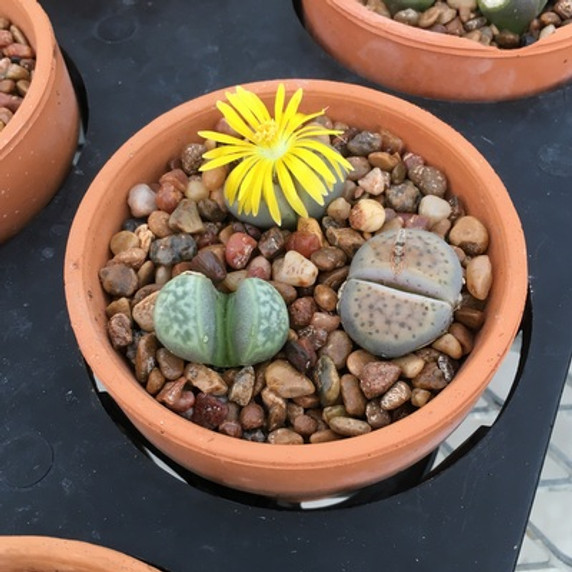
[[[203,274],[185,272],[161,289],[155,333],[175,355],[217,367],[252,365],[280,351],[288,336],[288,310],[278,291],[259,278],[231,294]]]

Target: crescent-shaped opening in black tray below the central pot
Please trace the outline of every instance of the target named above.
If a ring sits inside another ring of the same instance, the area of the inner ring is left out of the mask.
[[[345,496],[332,497],[317,501],[306,501],[302,503],[286,503],[284,501],[267,498],[261,495],[237,491],[229,487],[213,483],[212,481],[204,479],[181,467],[141,435],[112,397],[107,393],[105,388],[97,379],[94,378],[93,373],[90,371],[87,364],[86,368],[90,372],[90,377],[94,383],[97,395],[107,414],[139,451],[174,478],[184,481],[191,487],[202,492],[250,506],[276,510],[335,510],[338,508],[346,508],[375,502],[404,492],[447,470],[458,459],[468,454],[471,449],[475,447],[475,445],[477,445],[477,443],[479,443],[479,441],[488,433],[494,421],[510,401],[511,396],[518,387],[518,380],[520,378],[530,342],[531,319],[532,311],[530,302],[527,302],[523,322],[521,324],[521,331],[511,348],[512,357],[516,358],[516,360],[512,360],[516,361],[515,367],[512,368],[513,371],[501,372],[503,379],[500,384],[500,389],[487,389],[485,395],[473,409],[473,412],[477,413],[477,418],[480,411],[487,409],[487,424],[479,424],[475,427],[475,422],[473,420],[472,425],[468,424],[470,434],[468,436],[464,436],[464,440],[458,446],[452,447],[450,444],[445,443],[441,448],[436,449],[415,465],[389,479],[369,485]],[[493,382],[491,382],[491,384]],[[502,393],[504,393],[504,395],[501,395]],[[463,425],[464,424],[461,424],[459,429],[457,429],[457,432],[463,433]],[[467,433],[467,427],[465,427],[464,433]]]

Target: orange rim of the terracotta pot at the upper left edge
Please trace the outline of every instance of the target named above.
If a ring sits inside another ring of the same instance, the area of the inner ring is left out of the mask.
[[[51,86],[55,81],[53,68],[55,65],[56,38],[48,15],[36,0],[12,0],[20,4],[26,12],[33,29],[33,37],[26,33],[26,38],[36,52],[36,67],[30,88],[20,107],[6,127],[0,132],[0,160],[10,152],[10,142],[19,133],[22,137],[33,125],[35,118],[42,113],[44,101],[48,99]],[[12,22],[23,30],[20,22]]]

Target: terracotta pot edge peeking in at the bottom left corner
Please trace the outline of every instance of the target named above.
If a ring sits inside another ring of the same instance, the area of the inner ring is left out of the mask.
[[[0,536],[2,572],[158,572],[120,552],[78,540]]]

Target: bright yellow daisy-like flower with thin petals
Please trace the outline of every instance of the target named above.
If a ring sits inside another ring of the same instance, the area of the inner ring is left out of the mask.
[[[274,190],[274,181],[294,211],[308,216],[308,211],[295,187],[295,182],[318,204],[332,190],[351,164],[332,147],[318,141],[322,135],[338,135],[341,131],[326,129],[309,121],[323,115],[322,109],[306,115],[298,111],[302,89],[285,102],[284,84],[276,91],[274,117],[253,92],[240,86],[235,93],[225,93],[228,103],[217,102],[217,108],[234,131],[242,138],[217,131],[199,131],[205,139],[219,144],[204,154],[208,161],[201,171],[215,169],[238,161],[225,183],[230,204],[238,201],[238,212],[258,214],[264,201],[272,219],[280,225],[282,217]]]

